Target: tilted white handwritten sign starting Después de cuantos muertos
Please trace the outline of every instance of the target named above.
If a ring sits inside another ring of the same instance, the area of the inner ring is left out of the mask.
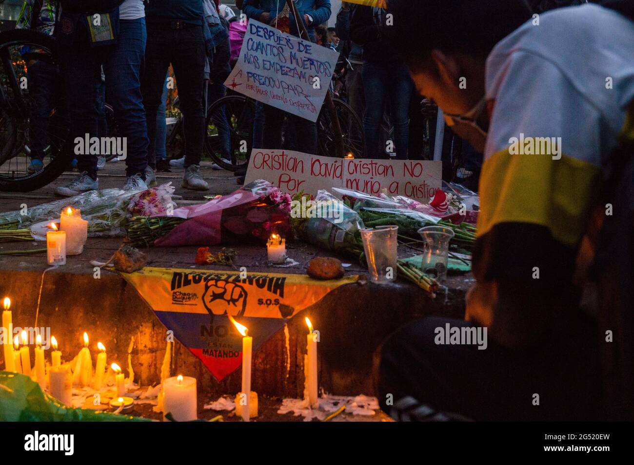
[[[229,89],[317,121],[339,53],[250,20]]]

